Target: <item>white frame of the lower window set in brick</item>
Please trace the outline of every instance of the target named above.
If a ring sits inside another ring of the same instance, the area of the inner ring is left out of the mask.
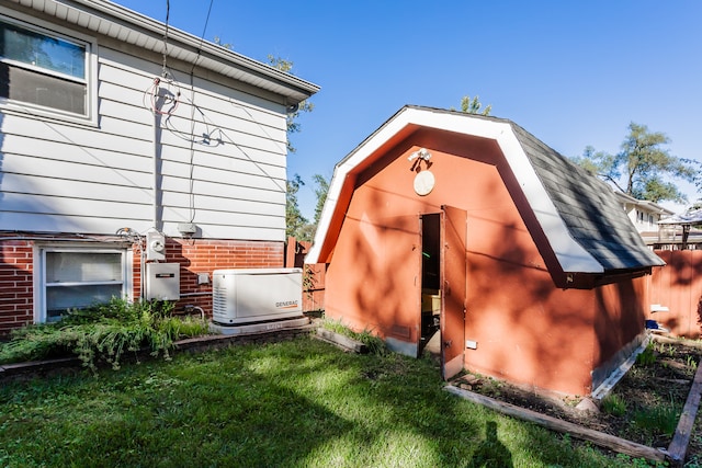
[[[60,253],[120,253],[122,255],[122,297],[126,297],[127,300],[134,300],[133,292],[133,267],[134,267],[134,252],[129,247],[122,246],[105,246],[105,244],[56,244],[56,243],[39,243],[35,244],[33,249],[33,267],[34,267],[34,323],[47,322],[47,282],[46,282],[46,254],[53,252]],[[114,282],[84,282],[86,285],[107,285],[115,284]],[[75,283],[67,284],[75,285]],[[55,287],[55,285],[52,285]]]

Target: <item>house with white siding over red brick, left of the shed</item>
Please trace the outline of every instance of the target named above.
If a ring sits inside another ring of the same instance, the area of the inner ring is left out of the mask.
[[[318,90],[110,1],[0,3],[0,333],[115,295],[210,313],[214,270],[282,266]]]

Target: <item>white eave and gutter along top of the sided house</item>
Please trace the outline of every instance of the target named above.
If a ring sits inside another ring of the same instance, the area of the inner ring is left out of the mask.
[[[204,69],[281,95],[287,105],[295,105],[319,91],[316,84],[172,26],[168,27],[165,44],[165,23],[110,1],[11,1],[125,44],[157,54],[166,52],[169,58],[196,64]]]

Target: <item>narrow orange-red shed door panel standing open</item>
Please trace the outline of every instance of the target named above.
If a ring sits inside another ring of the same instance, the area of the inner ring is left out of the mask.
[[[466,213],[442,206],[441,215],[441,376],[463,370],[466,303]]]

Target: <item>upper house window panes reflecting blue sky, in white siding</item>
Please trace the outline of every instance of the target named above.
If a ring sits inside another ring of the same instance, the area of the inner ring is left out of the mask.
[[[0,98],[89,115],[90,44],[0,18]]]

